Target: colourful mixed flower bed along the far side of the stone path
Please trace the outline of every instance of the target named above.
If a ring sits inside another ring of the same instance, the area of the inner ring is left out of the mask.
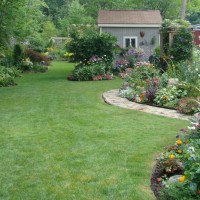
[[[200,97],[200,52],[194,53],[193,62],[173,63],[168,59],[167,71],[162,71],[146,61],[125,68],[124,83],[119,96],[137,103],[176,109],[180,113],[194,114],[198,111]],[[125,64],[124,64],[125,63]],[[129,66],[123,60],[123,65]],[[121,67],[123,68],[123,67]]]

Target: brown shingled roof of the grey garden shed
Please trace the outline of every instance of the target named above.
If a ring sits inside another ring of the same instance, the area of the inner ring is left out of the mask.
[[[98,24],[161,24],[159,10],[100,10]]]

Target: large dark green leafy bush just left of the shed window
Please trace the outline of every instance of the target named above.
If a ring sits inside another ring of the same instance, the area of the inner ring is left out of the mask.
[[[93,55],[99,57],[106,55],[110,62],[113,61],[116,38],[111,34],[91,32],[81,36],[76,32],[71,37],[67,51],[74,54],[75,61],[88,61]]]

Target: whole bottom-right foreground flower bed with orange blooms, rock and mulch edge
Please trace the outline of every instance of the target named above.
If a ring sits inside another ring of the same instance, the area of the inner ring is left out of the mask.
[[[151,187],[160,200],[200,199],[200,113],[158,157]]]

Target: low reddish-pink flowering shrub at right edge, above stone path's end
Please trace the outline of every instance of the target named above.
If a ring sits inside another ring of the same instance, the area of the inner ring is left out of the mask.
[[[185,97],[179,103],[177,111],[184,114],[194,114],[199,108],[199,104],[192,98]]]

